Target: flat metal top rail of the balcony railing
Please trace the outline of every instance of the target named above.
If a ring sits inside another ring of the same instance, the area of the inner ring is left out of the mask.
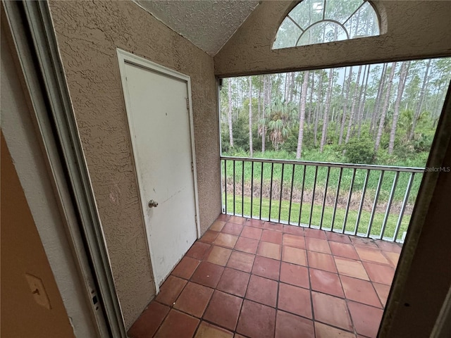
[[[424,168],[397,167],[395,165],[333,163],[333,162],[314,162],[314,161],[299,161],[299,160],[274,160],[272,158],[249,158],[249,157],[235,157],[235,156],[221,156],[220,158],[221,158],[221,160],[228,160],[228,161],[247,161],[247,162],[295,164],[295,165],[315,165],[315,166],[319,166],[319,167],[384,170],[384,171],[395,171],[395,172],[397,171],[397,172],[407,172],[407,173],[424,173]]]

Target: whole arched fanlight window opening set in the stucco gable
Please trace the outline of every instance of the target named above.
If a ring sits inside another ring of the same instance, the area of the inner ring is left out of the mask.
[[[365,0],[304,0],[280,25],[273,49],[379,35],[378,15]]]

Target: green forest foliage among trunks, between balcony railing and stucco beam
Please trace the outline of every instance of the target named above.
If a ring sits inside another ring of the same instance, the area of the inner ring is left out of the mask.
[[[367,83],[363,80],[357,83],[357,69],[354,69],[352,80],[349,82],[350,89],[347,89],[350,68],[346,70],[345,68],[335,68],[330,92],[327,85],[330,72],[325,69],[311,70],[307,79],[305,96],[301,159],[304,161],[424,166],[451,77],[451,58],[434,59],[431,62],[431,69],[426,77],[425,68],[428,60],[409,61],[409,72],[400,101],[392,154],[388,154],[388,144],[395,113],[396,89],[400,81],[400,63],[395,71],[377,154],[374,154],[373,147],[385,103],[387,77],[392,66],[391,63],[385,72],[385,84],[381,87],[380,95],[378,92],[383,75],[381,65],[371,65],[370,68],[366,68],[369,69]],[[302,82],[306,74],[305,72],[294,72],[253,75],[252,101],[249,100],[249,77],[224,79],[223,90],[220,94],[221,150],[223,154],[249,156],[249,104],[252,104],[253,156],[295,159]],[[427,86],[424,92],[421,92],[425,77]],[[230,98],[228,97],[229,82]],[[321,88],[320,82],[322,82]],[[349,92],[349,96],[347,92]],[[354,93],[357,93],[357,96],[354,97]],[[322,126],[327,96],[330,96],[327,115],[328,130],[321,152]],[[423,101],[419,100],[420,97],[423,97]],[[355,101],[355,109],[350,142],[338,145],[342,114],[345,113],[343,137],[345,139],[353,101]],[[232,111],[234,149],[230,149],[229,144],[229,105]],[[420,106],[421,111],[419,112]],[[361,127],[359,128],[358,125]],[[370,125],[373,125],[371,130]],[[413,125],[415,129],[412,132]],[[266,151],[264,153],[261,153],[262,134],[265,134]]]

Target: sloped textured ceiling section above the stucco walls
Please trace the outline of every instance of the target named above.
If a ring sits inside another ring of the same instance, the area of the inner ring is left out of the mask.
[[[211,56],[218,53],[259,4],[254,0],[134,1]]]

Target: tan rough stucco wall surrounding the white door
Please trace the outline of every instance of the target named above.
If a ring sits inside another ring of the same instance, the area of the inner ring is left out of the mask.
[[[131,1],[50,1],[125,325],[154,296],[116,48],[190,75],[202,232],[221,213],[213,58]]]

